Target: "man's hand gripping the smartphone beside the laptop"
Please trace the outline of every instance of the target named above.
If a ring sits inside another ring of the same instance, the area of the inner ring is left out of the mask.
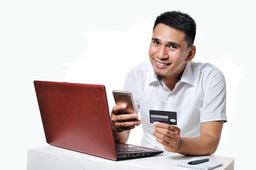
[[[135,128],[135,125],[141,123],[140,120],[137,120],[137,113],[130,114],[119,114],[119,110],[124,110],[126,105],[116,105],[112,108],[110,115],[112,129],[114,132],[123,132],[124,130],[131,130]]]

